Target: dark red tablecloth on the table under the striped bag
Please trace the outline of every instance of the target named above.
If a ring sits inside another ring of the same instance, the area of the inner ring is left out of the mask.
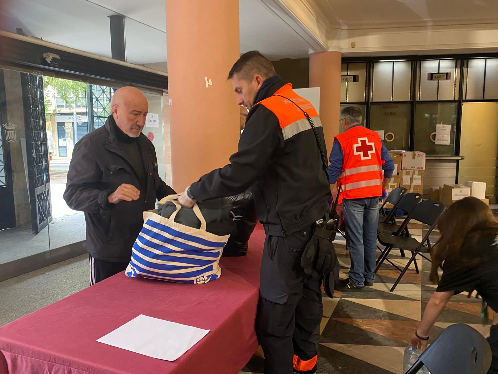
[[[236,374],[257,348],[264,232],[220,279],[186,285],[118,274],[0,328],[0,374]],[[143,314],[211,332],[175,362],[97,343]]]

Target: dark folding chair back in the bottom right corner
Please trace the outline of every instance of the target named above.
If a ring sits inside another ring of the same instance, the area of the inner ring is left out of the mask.
[[[488,341],[468,325],[448,326],[405,374],[424,365],[431,374],[486,374],[492,353]]]

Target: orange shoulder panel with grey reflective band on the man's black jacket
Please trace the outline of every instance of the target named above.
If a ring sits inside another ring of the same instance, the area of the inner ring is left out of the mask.
[[[311,126],[302,110],[299,110],[291,101],[282,98],[281,95],[296,103],[299,108],[304,110],[313,120],[315,127],[322,127],[320,117],[315,107],[306,99],[296,94],[292,90],[290,83],[280,87],[273,96],[261,100],[258,104],[264,105],[271,110],[278,118],[280,128],[282,129],[283,140],[292,138],[302,131],[310,130]]]

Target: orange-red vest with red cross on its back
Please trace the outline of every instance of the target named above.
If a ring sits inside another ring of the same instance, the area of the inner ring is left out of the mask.
[[[356,126],[335,138],[343,151],[342,173],[337,186],[342,184],[343,198],[366,198],[382,195],[382,141],[375,131]]]

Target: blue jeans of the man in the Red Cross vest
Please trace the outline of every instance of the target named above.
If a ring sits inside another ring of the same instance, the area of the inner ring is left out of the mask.
[[[378,197],[343,200],[346,245],[351,257],[349,279],[356,286],[375,279]]]

